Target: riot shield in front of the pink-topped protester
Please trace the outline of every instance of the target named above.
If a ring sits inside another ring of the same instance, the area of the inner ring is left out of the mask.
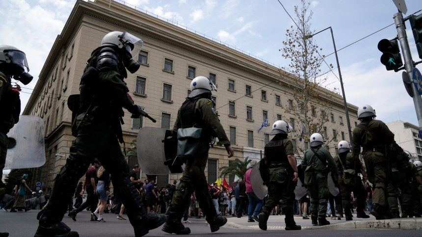
[[[264,184],[264,179],[267,180],[268,173],[266,172],[267,167],[265,167],[264,162],[258,162],[251,170],[251,174],[249,176],[251,181],[252,190],[254,190],[255,195],[259,199],[264,199],[264,197],[268,194],[268,187]],[[264,179],[262,177],[264,176]]]

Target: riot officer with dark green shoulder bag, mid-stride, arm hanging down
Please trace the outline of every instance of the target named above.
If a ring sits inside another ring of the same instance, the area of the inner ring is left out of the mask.
[[[199,207],[206,215],[208,224],[210,224],[211,232],[218,231],[227,222],[225,217],[217,215],[212,204],[205,176],[205,166],[207,165],[212,137],[218,138],[217,145],[224,145],[229,158],[234,155],[233,149],[223,126],[217,118],[214,102],[211,100],[211,91],[215,90],[215,85],[210,79],[200,76],[191,81],[190,89],[190,95],[177,114],[173,133],[176,134],[179,129],[186,128],[201,128],[202,133],[194,156],[183,160],[186,163],[185,171],[173,194],[171,207],[167,210],[167,221],[162,227],[162,231],[169,234],[190,234],[190,229],[185,228],[181,220],[194,190]]]

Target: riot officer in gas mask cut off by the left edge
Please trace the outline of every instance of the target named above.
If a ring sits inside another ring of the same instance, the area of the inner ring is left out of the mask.
[[[32,80],[24,52],[9,45],[0,45],[0,177],[6,163],[7,133],[19,122],[21,113],[20,87],[12,86],[11,78],[27,85]],[[0,180],[0,188],[6,187]],[[1,236],[8,236],[0,233]]]

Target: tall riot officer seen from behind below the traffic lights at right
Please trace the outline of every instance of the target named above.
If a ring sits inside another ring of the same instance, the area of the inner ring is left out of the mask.
[[[370,213],[377,220],[389,218],[385,195],[386,145],[392,144],[394,134],[382,121],[375,120],[375,109],[370,105],[359,106],[357,115],[361,122],[353,130],[352,156],[354,160],[358,159],[363,147],[362,157],[367,168],[368,180],[374,184]]]

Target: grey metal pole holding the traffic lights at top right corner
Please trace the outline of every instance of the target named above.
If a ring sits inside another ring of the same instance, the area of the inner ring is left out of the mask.
[[[410,81],[413,82],[413,60],[410,53],[409,42],[407,41],[406,28],[403,22],[403,14],[398,12],[394,14],[394,22],[396,23],[397,38],[400,41],[401,52],[403,53],[404,66],[409,76]],[[413,103],[415,104],[416,116],[418,117],[419,130],[422,130],[422,97],[414,83],[411,85]]]

